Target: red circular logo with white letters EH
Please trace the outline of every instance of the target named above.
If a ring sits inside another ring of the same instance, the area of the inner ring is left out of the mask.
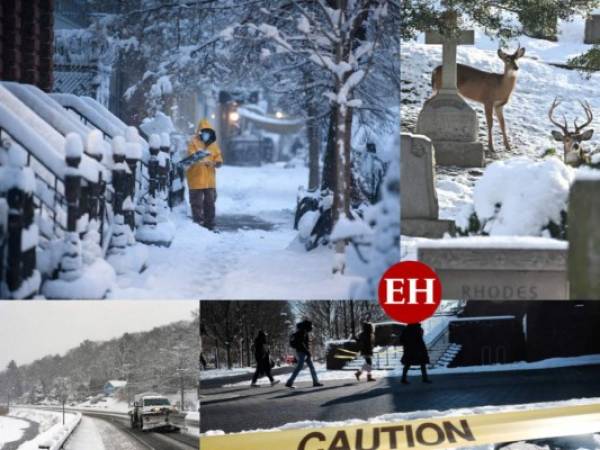
[[[442,283],[427,264],[404,261],[379,280],[379,304],[392,319],[418,323],[433,315],[442,299]]]

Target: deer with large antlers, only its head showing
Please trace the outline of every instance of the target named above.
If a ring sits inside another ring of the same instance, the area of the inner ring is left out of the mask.
[[[589,154],[585,150],[583,141],[589,141],[594,134],[594,130],[583,131],[594,119],[592,108],[588,102],[579,101],[579,104],[583,108],[585,113],[585,122],[581,125],[577,125],[577,119],[573,120],[573,131],[569,131],[569,125],[567,124],[567,118],[563,115],[564,125],[560,124],[554,119],[554,110],[560,105],[558,97],[552,102],[550,110],[548,111],[548,118],[553,125],[560,128],[560,132],[552,130],[552,137],[555,141],[563,143],[564,161],[566,164],[571,166],[579,166],[581,163],[586,162],[589,159]],[[583,132],[582,132],[583,131]]]

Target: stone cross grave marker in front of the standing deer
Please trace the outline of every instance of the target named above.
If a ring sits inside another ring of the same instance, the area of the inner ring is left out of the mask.
[[[456,12],[447,11],[445,20],[449,28],[456,29]],[[475,43],[474,31],[460,30],[453,36],[427,32],[425,43],[442,45],[442,86],[423,105],[416,131],[433,141],[437,164],[483,167],[483,144],[477,141],[477,114],[459,95],[457,88],[456,50],[458,45]]]

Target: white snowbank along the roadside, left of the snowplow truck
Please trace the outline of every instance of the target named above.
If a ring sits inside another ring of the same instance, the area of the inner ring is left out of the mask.
[[[81,421],[80,413],[65,414],[64,425],[62,415],[58,412],[23,409],[13,414],[39,423],[42,431],[31,441],[22,444],[19,450],[39,450],[40,446],[49,450],[60,450]]]

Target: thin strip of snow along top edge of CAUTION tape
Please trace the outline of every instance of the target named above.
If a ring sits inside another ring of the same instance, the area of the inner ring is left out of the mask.
[[[294,429],[304,429],[304,428],[323,428],[323,427],[344,427],[349,425],[361,425],[364,423],[370,424],[379,424],[379,423],[389,423],[389,422],[401,422],[405,420],[417,420],[417,419],[425,419],[432,417],[456,417],[456,416],[465,416],[465,415],[473,415],[473,414],[490,414],[490,413],[498,413],[498,412],[509,412],[509,411],[530,411],[532,409],[541,409],[541,408],[558,408],[565,406],[575,406],[575,405],[589,405],[589,404],[597,404],[600,402],[600,398],[580,398],[580,399],[572,399],[565,400],[559,402],[543,402],[543,403],[525,403],[518,405],[504,405],[504,406],[479,406],[474,408],[459,408],[459,409],[448,409],[445,411],[438,411],[435,409],[430,410],[422,410],[422,411],[413,411],[409,413],[391,413],[391,414],[383,414],[381,416],[372,417],[368,420],[362,419],[349,419],[343,421],[335,421],[335,422],[323,422],[318,420],[304,420],[301,422],[292,422],[282,425],[277,428],[269,428],[269,429],[256,429],[256,430],[245,430],[241,433],[251,433],[251,432],[273,432],[273,431],[283,431],[283,430],[294,430]],[[216,436],[216,435],[224,435],[226,434],[222,430],[210,430],[204,433],[206,436]],[[231,433],[237,434],[237,433]],[[573,429],[573,434],[577,434],[576,427]],[[466,447],[461,447],[466,450]],[[489,447],[479,447],[479,448],[489,448],[493,449],[494,446],[491,445]]]

